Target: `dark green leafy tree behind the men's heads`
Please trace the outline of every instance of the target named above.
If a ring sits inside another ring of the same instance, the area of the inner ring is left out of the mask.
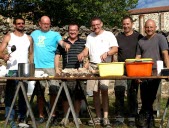
[[[94,16],[100,17],[106,26],[119,26],[121,18],[137,3],[138,0],[0,0],[0,11],[10,17],[31,14],[27,18],[35,22],[48,15],[57,26],[73,21],[89,26]]]

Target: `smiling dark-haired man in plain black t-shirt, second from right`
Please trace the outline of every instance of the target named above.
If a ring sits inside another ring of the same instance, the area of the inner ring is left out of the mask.
[[[134,31],[133,20],[131,17],[126,16],[122,20],[124,32],[118,34],[118,61],[125,62],[126,59],[135,58],[137,43],[143,36]],[[126,74],[126,73],[125,73]],[[137,90],[138,84],[135,80],[116,80],[115,81],[115,108],[116,108],[116,121],[114,126],[124,125],[124,96],[127,88],[128,95],[128,125],[135,126],[135,117],[137,115]]]

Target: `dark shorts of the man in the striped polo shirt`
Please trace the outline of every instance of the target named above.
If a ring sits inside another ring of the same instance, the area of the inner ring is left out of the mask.
[[[68,87],[70,96],[71,96],[71,98],[73,98],[73,100],[82,100],[83,99],[84,91],[81,90],[79,87],[79,86],[81,86],[81,87],[83,86],[83,84],[84,84],[83,81],[70,80],[70,81],[66,81],[65,84]],[[80,84],[80,85],[78,85],[78,84]],[[62,90],[61,96],[64,101],[67,100],[64,90]]]

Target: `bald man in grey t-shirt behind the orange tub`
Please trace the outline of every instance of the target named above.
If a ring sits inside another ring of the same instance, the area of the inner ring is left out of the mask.
[[[154,62],[153,72],[157,71],[157,60],[164,61],[166,67],[169,68],[168,44],[166,38],[156,33],[156,24],[151,19],[145,22],[144,28],[146,36],[138,42],[136,58],[152,58]],[[147,79],[142,80],[140,83],[142,100],[142,107],[138,118],[138,126],[140,127],[154,127],[153,103],[160,82],[160,79]]]

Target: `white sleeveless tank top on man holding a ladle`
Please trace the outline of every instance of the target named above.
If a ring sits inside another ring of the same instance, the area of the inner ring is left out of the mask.
[[[10,33],[10,35],[11,39],[7,45],[8,53],[11,53],[12,45],[16,46],[16,51],[10,54],[10,58],[7,61],[7,69],[18,70],[18,63],[28,63],[30,41],[26,34],[21,37],[16,36],[14,33]]]

